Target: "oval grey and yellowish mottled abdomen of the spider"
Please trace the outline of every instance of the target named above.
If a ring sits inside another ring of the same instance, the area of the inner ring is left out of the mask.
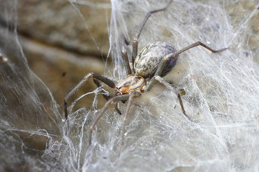
[[[153,77],[162,59],[167,54],[176,52],[175,48],[165,42],[155,42],[143,48],[134,61],[134,71],[137,75],[148,78]],[[166,61],[161,77],[168,74],[176,65],[177,57]]]

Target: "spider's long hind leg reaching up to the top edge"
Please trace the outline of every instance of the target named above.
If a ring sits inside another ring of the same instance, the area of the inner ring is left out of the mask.
[[[137,40],[140,36],[140,33],[143,29],[143,27],[145,26],[147,20],[149,19],[149,17],[151,16],[151,14],[153,13],[156,13],[156,12],[159,12],[159,11],[164,11],[167,9],[167,7],[169,7],[169,5],[171,4],[172,0],[170,0],[168,2],[168,4],[164,7],[164,8],[161,8],[161,9],[158,9],[158,10],[153,10],[153,11],[149,11],[147,14],[146,14],[146,17],[145,19],[142,21],[142,24],[140,25],[139,29],[138,29],[138,32],[136,33],[135,37],[134,37],[134,40],[133,40],[133,44],[132,44],[132,65],[134,66],[134,61],[135,61],[135,58],[137,56]]]

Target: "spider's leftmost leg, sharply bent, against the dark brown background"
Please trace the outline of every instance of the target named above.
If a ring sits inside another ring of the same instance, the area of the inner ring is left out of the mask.
[[[86,83],[90,77],[94,77],[97,80],[100,80],[102,82],[104,82],[105,84],[107,84],[108,86],[110,86],[111,88],[115,88],[115,84],[108,79],[106,76],[91,72],[88,75],[85,75],[84,78],[67,94],[67,96],[64,98],[64,111],[65,111],[65,117],[66,119],[68,119],[68,110],[67,110],[67,101],[68,99],[74,94],[76,93],[76,91],[83,86],[84,83]]]

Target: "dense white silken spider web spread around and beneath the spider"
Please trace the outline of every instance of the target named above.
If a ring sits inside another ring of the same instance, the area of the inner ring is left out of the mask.
[[[114,77],[126,74],[120,35],[132,42],[144,15],[165,4],[111,1]],[[15,6],[9,5],[5,2],[2,8],[17,24]],[[175,93],[157,83],[134,100],[119,158],[122,116],[113,109],[98,121],[88,145],[88,129],[99,112],[99,89],[87,93],[96,95],[92,109],[69,114],[66,136],[62,107],[28,67],[16,28],[14,37],[1,28],[6,40],[1,40],[0,52],[8,58],[0,62],[1,171],[258,171],[257,8],[254,1],[174,1],[165,12],[151,16],[138,40],[139,50],[156,41],[177,50],[196,41],[228,50],[213,54],[195,47],[179,55],[177,66],[164,78],[185,90],[183,104],[193,122],[182,114]],[[130,56],[131,44],[127,48]],[[8,51],[17,55],[9,57]],[[124,112],[125,105],[119,108]]]

